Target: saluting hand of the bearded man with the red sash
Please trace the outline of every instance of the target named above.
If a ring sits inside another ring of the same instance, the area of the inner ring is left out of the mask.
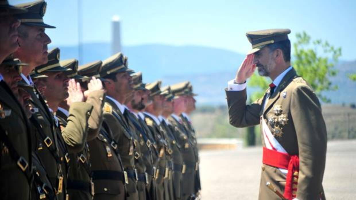
[[[240,65],[239,70],[237,70],[235,82],[244,83],[248,78],[250,78],[253,72],[256,70],[256,65],[253,64],[254,54],[247,55],[245,60]]]

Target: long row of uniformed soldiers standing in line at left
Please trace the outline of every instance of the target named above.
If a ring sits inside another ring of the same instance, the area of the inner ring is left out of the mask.
[[[122,53],[60,60],[45,12],[0,0],[1,199],[198,198],[190,82],[145,84]]]

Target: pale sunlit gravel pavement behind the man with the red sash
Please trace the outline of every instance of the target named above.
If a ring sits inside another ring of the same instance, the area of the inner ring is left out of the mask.
[[[262,147],[200,151],[202,200],[256,200]],[[323,186],[328,200],[356,199],[356,140],[328,142]]]

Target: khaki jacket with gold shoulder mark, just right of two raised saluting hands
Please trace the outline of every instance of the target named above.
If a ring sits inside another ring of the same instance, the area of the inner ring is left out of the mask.
[[[135,177],[135,144],[131,129],[116,103],[105,98],[104,121],[108,125],[114,140],[117,142],[124,170],[127,173],[127,198],[138,199]]]

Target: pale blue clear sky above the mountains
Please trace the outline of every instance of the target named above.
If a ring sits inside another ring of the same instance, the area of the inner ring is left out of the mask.
[[[28,0],[9,0],[10,4]],[[77,0],[48,0],[45,22],[52,45],[78,44]],[[82,0],[83,42],[109,42],[111,18],[119,15],[123,45],[202,45],[246,53],[245,33],[267,28],[306,31],[312,39],[342,48],[355,60],[356,1]]]

